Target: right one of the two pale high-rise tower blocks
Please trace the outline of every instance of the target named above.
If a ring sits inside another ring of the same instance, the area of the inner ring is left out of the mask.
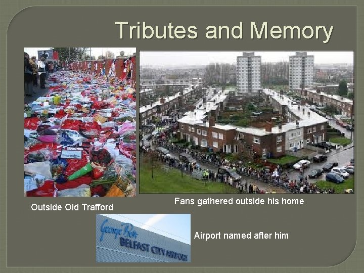
[[[291,90],[313,86],[313,55],[296,52],[289,57],[289,88]]]

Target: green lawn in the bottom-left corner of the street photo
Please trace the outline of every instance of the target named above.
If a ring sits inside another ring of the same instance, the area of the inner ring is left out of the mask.
[[[142,161],[141,161],[142,162]],[[238,193],[239,190],[219,182],[200,181],[176,169],[168,171],[160,163],[154,163],[154,178],[152,168],[148,163],[140,165],[140,193]]]

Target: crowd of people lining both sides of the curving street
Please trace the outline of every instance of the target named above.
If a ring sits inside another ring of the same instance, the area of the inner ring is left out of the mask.
[[[278,165],[274,170],[268,167],[254,167],[249,165],[249,162],[229,162],[214,154],[204,153],[202,151],[194,151],[186,147],[179,146],[174,143],[167,142],[165,140],[158,140],[157,146],[162,146],[173,153],[186,153],[190,154],[196,161],[213,165],[212,169],[219,166],[228,166],[239,175],[252,178],[254,180],[266,183],[269,186],[280,188],[290,193],[335,193],[334,189],[320,189],[314,183],[308,181],[307,176],[299,175],[297,179],[289,179],[288,173],[284,172],[282,167]],[[150,148],[146,146],[141,147],[142,153],[150,153]],[[211,181],[220,181],[221,183],[229,184],[232,187],[238,188],[240,192],[246,193],[266,193],[263,189],[259,189],[257,185],[244,182],[244,178],[241,181],[234,181],[233,177],[229,175],[219,175],[211,169],[201,169],[198,163],[183,162],[180,159],[176,159],[173,156],[157,153],[156,159],[160,160],[169,167],[181,169],[186,173],[192,175],[193,171],[202,172],[202,178]]]

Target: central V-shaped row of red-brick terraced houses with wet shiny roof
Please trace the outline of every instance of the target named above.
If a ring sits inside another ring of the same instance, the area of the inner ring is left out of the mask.
[[[215,115],[205,107],[187,112],[178,120],[179,137],[214,152],[268,158],[277,158],[286,151],[326,140],[326,118],[274,90],[263,89],[262,96],[275,110],[287,116],[287,123],[266,122],[264,128],[217,124]]]

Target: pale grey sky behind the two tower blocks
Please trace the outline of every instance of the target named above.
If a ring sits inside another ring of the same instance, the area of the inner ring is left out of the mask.
[[[288,61],[289,56],[295,52],[289,51],[265,51],[255,52],[255,55],[262,57],[262,62]],[[316,51],[307,52],[314,56],[316,64],[333,64],[354,62],[354,52],[352,51]],[[154,51],[140,52],[141,65],[206,65],[210,63],[236,63],[237,56],[242,56],[243,51]]]

